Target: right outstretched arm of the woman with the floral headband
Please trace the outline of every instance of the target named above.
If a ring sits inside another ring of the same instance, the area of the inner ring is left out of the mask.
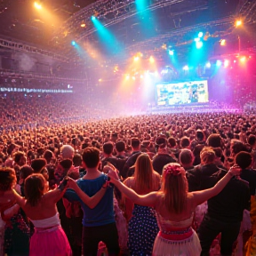
[[[194,205],[196,206],[199,204],[203,204],[205,201],[212,198],[213,196],[217,196],[220,191],[228,184],[228,181],[231,180],[235,175],[240,174],[240,172],[241,168],[234,165],[229,169],[227,174],[216,183],[214,187],[202,191],[192,192],[194,197]]]

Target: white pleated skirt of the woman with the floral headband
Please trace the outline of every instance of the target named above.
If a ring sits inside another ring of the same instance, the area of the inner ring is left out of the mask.
[[[195,230],[187,239],[174,241],[156,236],[153,256],[200,256],[202,249]]]

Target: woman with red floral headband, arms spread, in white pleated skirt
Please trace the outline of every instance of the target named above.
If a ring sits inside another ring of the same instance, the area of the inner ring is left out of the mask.
[[[166,164],[160,191],[144,196],[136,194],[131,188],[121,183],[113,166],[109,165],[108,176],[116,188],[129,197],[134,204],[152,206],[156,209],[160,231],[156,236],[153,256],[198,256],[201,246],[196,232],[191,228],[196,205],[218,195],[228,181],[239,172],[239,168],[232,167],[213,188],[188,193],[185,170],[180,164]]]

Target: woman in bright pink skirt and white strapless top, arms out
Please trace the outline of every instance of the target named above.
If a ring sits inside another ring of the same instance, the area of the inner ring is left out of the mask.
[[[44,186],[44,176],[36,173],[25,180],[25,198],[13,190],[17,203],[35,226],[35,234],[30,241],[29,256],[71,256],[68,238],[60,226],[56,203],[68,187],[76,191],[84,204],[94,208],[104,196],[106,189],[102,188],[95,196],[89,197],[78,188],[75,180],[70,178],[65,178],[58,188],[46,193]]]

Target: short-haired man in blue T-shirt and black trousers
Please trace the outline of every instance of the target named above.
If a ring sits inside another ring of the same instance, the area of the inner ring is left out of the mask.
[[[94,196],[107,180],[107,176],[98,170],[99,164],[100,150],[92,147],[85,148],[83,166],[86,174],[76,183],[88,196]],[[109,256],[117,256],[120,251],[113,208],[113,187],[106,189],[100,203],[93,209],[84,204],[74,190],[68,189],[64,196],[70,202],[79,201],[82,204],[84,212],[82,254],[84,256],[96,256],[100,241],[106,244]]]

